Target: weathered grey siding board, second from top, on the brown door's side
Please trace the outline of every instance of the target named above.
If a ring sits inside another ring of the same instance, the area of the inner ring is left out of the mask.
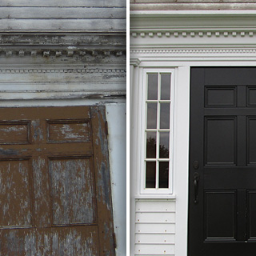
[[[0,7],[0,18],[126,18],[126,8]]]

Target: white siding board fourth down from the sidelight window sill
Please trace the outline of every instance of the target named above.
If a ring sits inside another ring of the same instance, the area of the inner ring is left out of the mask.
[[[135,243],[137,244],[174,244],[174,234],[135,234]]]

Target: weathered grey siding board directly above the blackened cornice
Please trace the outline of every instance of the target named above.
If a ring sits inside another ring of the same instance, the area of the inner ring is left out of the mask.
[[[35,22],[33,19],[2,19],[0,30],[126,30],[126,19],[42,19]]]

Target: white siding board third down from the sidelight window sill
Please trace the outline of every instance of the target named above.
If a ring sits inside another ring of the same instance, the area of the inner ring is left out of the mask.
[[[137,223],[135,226],[136,233],[173,233],[175,232],[175,225],[170,223],[164,224],[143,224]]]

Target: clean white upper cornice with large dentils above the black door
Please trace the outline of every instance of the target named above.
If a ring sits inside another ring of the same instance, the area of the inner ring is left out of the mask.
[[[253,37],[256,11],[134,11],[132,38]]]

